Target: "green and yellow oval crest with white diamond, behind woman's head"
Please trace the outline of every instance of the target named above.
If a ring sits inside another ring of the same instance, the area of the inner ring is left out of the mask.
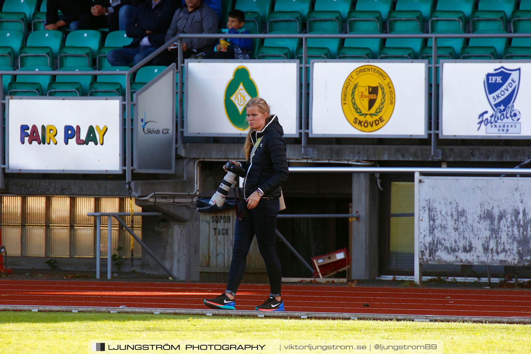
[[[225,88],[224,96],[225,115],[238,130],[249,129],[245,105],[253,97],[258,97],[258,88],[249,70],[245,66],[238,66]]]

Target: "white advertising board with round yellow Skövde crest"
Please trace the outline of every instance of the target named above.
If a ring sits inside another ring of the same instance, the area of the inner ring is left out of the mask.
[[[315,60],[310,67],[310,136],[427,136],[427,61]]]

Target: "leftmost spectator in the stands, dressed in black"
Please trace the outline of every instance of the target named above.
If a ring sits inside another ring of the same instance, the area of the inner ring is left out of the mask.
[[[79,30],[79,19],[85,13],[90,13],[92,0],[48,0],[46,3],[47,30],[58,30],[68,26],[71,31]],[[61,11],[63,14],[59,15]]]

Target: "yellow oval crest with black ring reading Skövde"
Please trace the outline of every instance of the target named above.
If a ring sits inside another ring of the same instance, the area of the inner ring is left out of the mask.
[[[389,122],[395,108],[395,88],[386,72],[363,65],[350,73],[341,90],[341,107],[348,123],[374,132]]]

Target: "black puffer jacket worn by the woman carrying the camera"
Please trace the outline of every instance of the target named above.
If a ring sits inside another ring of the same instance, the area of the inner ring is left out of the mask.
[[[243,164],[247,169],[243,184],[245,198],[258,188],[264,192],[264,197],[280,197],[281,185],[288,179],[286,142],[282,135],[284,130],[278,123],[277,115],[273,116],[262,131],[251,133],[253,144],[259,139],[260,141],[250,161]]]

